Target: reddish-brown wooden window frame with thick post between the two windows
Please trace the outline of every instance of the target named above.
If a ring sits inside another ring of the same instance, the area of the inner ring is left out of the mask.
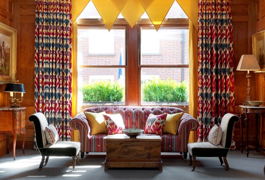
[[[77,28],[82,26],[105,27],[102,19],[79,18],[77,19]],[[166,18],[161,27],[178,27],[180,29],[189,29],[188,18]],[[77,68],[124,68],[125,69],[125,105],[124,106],[142,106],[141,105],[141,69],[142,68],[189,68],[189,65],[141,65],[140,64],[140,28],[152,27],[150,19],[139,19],[131,28],[125,19],[118,18],[114,28],[125,28],[125,65],[107,65],[91,66],[77,65]],[[136,59],[136,60],[135,60]],[[129,82],[130,81],[130,82]],[[133,84],[133,85],[131,85]],[[78,105],[79,106],[79,105]],[[95,105],[81,105],[78,112],[83,112],[85,108]],[[104,105],[105,106],[105,105]],[[107,105],[106,105],[107,106]],[[112,106],[112,105],[109,105]],[[116,105],[115,105],[116,106]],[[182,108],[189,112],[189,105],[165,105]]]

